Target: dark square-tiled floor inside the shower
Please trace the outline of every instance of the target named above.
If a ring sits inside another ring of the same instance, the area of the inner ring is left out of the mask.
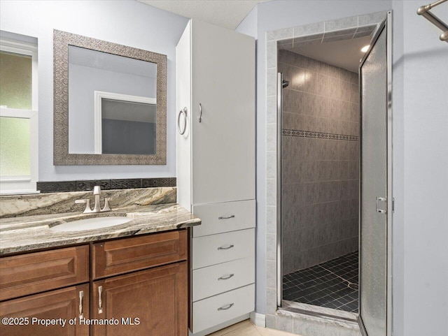
[[[283,300],[358,313],[358,251],[284,275]]]

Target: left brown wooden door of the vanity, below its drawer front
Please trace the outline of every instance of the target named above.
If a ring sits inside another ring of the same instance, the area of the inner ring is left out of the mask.
[[[89,285],[83,284],[49,291],[25,298],[0,302],[0,316],[24,325],[0,324],[0,335],[5,336],[88,336],[89,326],[80,325],[80,309],[89,318]],[[23,319],[22,319],[23,318]],[[69,320],[76,319],[75,324]],[[43,326],[38,321],[50,320],[57,324]],[[27,323],[25,325],[25,323]],[[64,325],[62,325],[64,323]]]

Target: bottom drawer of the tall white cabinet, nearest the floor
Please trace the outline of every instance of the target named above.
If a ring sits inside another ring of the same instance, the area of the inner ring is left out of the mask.
[[[253,312],[255,284],[193,303],[193,333]]]

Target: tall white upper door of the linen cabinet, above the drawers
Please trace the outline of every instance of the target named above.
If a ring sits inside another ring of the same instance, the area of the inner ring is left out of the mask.
[[[193,20],[191,59],[193,205],[253,199],[255,40]]]

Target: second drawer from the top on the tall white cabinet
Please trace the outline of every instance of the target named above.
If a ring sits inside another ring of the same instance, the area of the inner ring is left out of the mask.
[[[255,255],[255,228],[193,238],[193,270]]]

